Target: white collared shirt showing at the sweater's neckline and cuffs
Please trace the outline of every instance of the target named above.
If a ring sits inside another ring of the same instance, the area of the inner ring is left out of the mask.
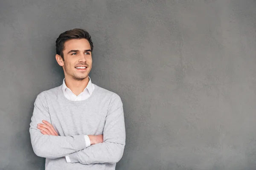
[[[72,100],[72,101],[81,101],[81,100],[88,99],[93,94],[94,88],[95,87],[94,87],[94,85],[93,85],[93,83],[92,83],[92,81],[89,77],[89,82],[88,82],[86,88],[84,89],[84,91],[82,91],[78,96],[76,96],[76,94],[73,94],[73,92],[70,90],[70,88],[67,87],[67,85],[65,83],[65,78],[63,79],[62,91],[64,93],[64,96],[67,99]],[[89,147],[90,146],[89,136],[84,135],[84,140],[85,140],[86,147]],[[68,155],[66,156],[66,161],[68,163],[71,162]]]

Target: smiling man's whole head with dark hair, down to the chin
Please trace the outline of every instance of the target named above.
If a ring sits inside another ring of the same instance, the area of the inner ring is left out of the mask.
[[[56,40],[56,60],[62,66],[65,78],[83,80],[92,68],[93,42],[84,29],[72,29]]]

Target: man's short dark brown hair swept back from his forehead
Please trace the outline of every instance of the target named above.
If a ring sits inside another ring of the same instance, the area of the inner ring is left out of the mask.
[[[56,40],[56,54],[60,55],[62,59],[64,60],[63,50],[64,50],[64,44],[67,40],[72,39],[86,39],[90,43],[91,51],[93,51],[93,42],[91,39],[90,34],[81,28],[74,28],[68,31],[65,31],[59,35],[59,37]]]

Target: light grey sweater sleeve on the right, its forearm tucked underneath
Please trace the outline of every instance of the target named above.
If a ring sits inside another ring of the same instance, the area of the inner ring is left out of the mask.
[[[103,130],[103,143],[91,145],[69,155],[72,163],[81,164],[118,162],[125,147],[125,121],[120,97],[114,94],[109,105]]]

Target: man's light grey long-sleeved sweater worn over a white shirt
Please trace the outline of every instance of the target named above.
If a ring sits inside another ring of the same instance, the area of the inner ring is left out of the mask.
[[[125,122],[120,97],[95,85],[83,101],[68,100],[61,86],[38,94],[29,133],[46,170],[114,170],[125,147]],[[44,135],[38,123],[47,120],[59,136]],[[103,143],[86,147],[84,135],[103,134]],[[69,155],[71,163],[64,156]]]

